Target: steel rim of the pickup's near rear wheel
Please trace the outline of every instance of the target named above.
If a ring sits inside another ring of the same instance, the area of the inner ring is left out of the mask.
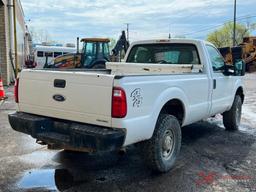
[[[174,149],[174,134],[171,130],[166,130],[162,141],[162,157],[169,160],[172,156]]]

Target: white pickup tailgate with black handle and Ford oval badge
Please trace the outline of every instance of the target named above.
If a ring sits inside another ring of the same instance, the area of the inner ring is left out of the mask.
[[[19,82],[19,110],[111,126],[113,80],[113,75],[90,72],[24,70]]]

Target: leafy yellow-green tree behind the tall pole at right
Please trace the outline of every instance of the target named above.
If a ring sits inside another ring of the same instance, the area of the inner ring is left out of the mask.
[[[250,30],[254,28],[255,24],[249,27],[237,23],[236,25],[236,44],[239,45],[243,42],[243,38],[250,35]],[[233,22],[226,23],[223,27],[207,36],[207,41],[213,43],[216,47],[231,47],[233,46]]]

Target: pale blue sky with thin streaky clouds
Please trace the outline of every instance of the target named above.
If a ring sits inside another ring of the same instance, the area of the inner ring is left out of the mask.
[[[233,18],[234,0],[21,0],[29,27],[52,40],[118,38],[130,23],[131,40],[183,36],[205,39]],[[255,0],[237,0],[239,22],[256,22]],[[205,30],[205,29],[211,30]],[[256,34],[255,31],[253,34]]]

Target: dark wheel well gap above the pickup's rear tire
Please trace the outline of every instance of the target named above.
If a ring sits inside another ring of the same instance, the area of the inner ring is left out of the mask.
[[[162,108],[161,114],[169,114],[175,116],[180,124],[182,124],[185,117],[185,110],[183,103],[178,99],[168,101]]]

